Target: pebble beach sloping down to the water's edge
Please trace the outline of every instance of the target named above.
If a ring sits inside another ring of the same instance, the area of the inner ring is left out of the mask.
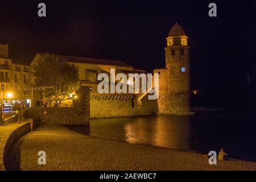
[[[38,164],[39,151],[46,152],[46,165]],[[7,164],[10,170],[256,170],[255,162],[209,165],[201,154],[100,139],[49,125],[21,138]]]

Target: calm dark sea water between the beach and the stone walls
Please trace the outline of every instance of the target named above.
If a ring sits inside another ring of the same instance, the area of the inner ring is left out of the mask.
[[[94,137],[208,154],[220,148],[230,158],[256,162],[256,121],[236,115],[144,116],[91,119],[73,130]]]

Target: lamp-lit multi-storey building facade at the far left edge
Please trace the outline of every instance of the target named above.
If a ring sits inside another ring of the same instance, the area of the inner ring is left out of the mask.
[[[17,102],[31,106],[34,99],[30,89],[31,67],[11,59],[8,44],[0,44],[0,84],[3,84],[4,103],[12,106]]]

